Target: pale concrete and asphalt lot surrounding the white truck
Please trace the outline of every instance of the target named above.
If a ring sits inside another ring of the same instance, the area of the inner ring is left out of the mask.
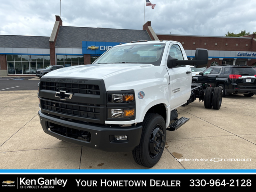
[[[136,164],[132,152],[103,152],[45,134],[38,118],[38,81],[0,78],[0,169],[149,169]],[[150,169],[255,170],[255,102],[255,95],[232,94],[220,110],[206,109],[199,100],[178,108],[180,117],[190,120],[167,132],[164,154]]]

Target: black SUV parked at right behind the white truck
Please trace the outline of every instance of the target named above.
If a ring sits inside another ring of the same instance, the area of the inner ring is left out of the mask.
[[[192,83],[207,83],[221,87],[223,97],[228,94],[244,94],[251,97],[256,94],[256,70],[252,66],[217,65],[211,66],[192,76]]]

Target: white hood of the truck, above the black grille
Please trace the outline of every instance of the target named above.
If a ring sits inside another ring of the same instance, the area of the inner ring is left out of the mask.
[[[163,78],[166,73],[165,66],[152,64],[91,64],[61,68],[44,77],[103,79],[107,90],[124,90],[138,81],[150,82],[150,79],[155,81],[156,78]]]

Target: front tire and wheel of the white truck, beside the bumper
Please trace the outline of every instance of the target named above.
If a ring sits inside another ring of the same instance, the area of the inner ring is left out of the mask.
[[[142,122],[140,144],[132,151],[136,163],[145,167],[153,167],[161,158],[165,140],[166,123],[158,114],[146,114]]]

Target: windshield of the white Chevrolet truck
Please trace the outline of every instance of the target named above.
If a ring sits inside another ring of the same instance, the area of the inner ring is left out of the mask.
[[[160,65],[165,44],[129,44],[114,46],[93,64],[143,63]]]

